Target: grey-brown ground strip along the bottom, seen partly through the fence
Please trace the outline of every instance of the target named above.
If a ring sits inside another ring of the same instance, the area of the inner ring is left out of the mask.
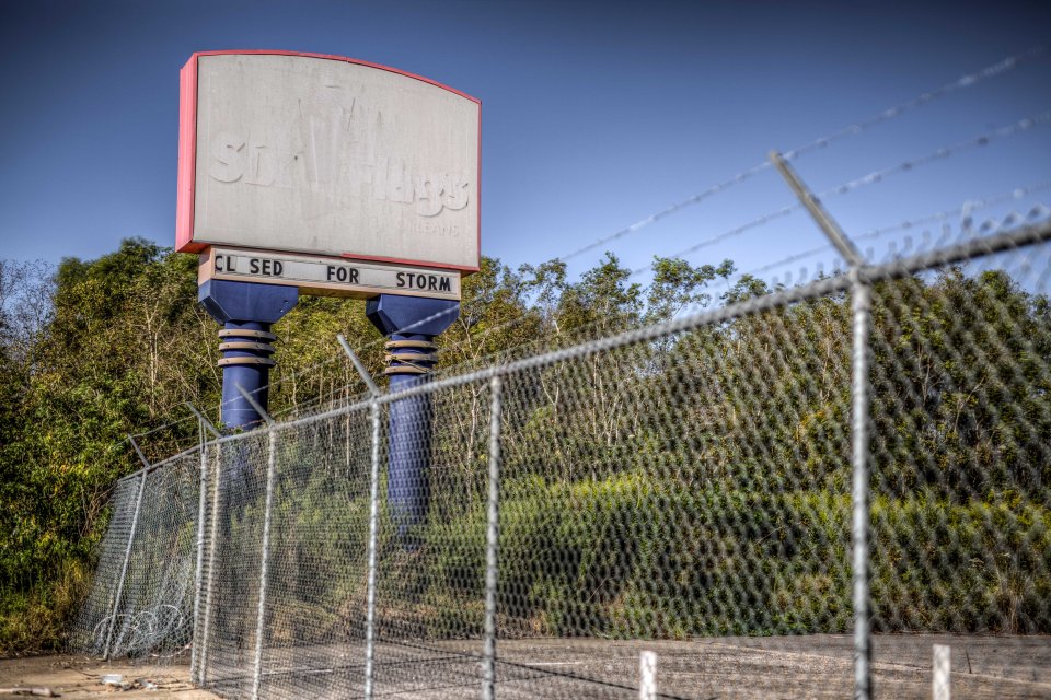
[[[874,639],[876,697],[929,698],[933,644],[951,648],[954,700],[1051,699],[1051,638],[934,634]],[[638,697],[638,654],[644,650],[657,653],[657,690],[662,698],[852,696],[850,635],[816,634],[648,642],[500,641],[497,697],[634,699]],[[481,651],[477,641],[427,645],[380,642],[376,649],[376,692],[405,700],[477,698]],[[264,658],[264,696],[361,697],[363,649],[357,645],[269,649]],[[224,690],[242,695],[251,685],[251,676],[243,670],[243,658],[231,653],[229,660],[235,665],[229,667]],[[155,688],[105,686],[101,682],[105,674],[120,674],[126,682],[143,679]],[[186,665],[105,664],[76,656],[0,660],[0,689],[45,687],[63,698],[219,697],[193,688],[188,677]],[[0,695],[0,700],[5,697]]]

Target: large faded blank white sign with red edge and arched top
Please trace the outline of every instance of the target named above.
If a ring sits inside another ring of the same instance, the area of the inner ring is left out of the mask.
[[[478,269],[477,101],[337,57],[201,54],[183,71],[178,250]]]

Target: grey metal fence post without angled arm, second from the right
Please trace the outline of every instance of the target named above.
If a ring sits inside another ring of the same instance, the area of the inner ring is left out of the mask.
[[[489,381],[489,493],[485,530],[485,649],[482,661],[482,697],[496,696],[496,586],[500,536],[500,410],[504,383]]]

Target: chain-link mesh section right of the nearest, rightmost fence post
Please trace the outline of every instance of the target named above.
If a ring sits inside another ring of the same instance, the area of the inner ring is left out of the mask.
[[[1018,637],[1051,632],[1049,264],[1043,245],[875,287],[873,625],[951,633],[965,696],[1049,679],[1051,640]]]

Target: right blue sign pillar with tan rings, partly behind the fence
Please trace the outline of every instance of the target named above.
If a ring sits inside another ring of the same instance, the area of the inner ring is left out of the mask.
[[[460,315],[460,302],[381,294],[366,304],[366,315],[384,336],[391,393],[426,382],[438,361],[435,336]],[[430,500],[430,444],[434,411],[429,394],[393,401],[389,420],[386,499],[403,546],[427,518]]]

